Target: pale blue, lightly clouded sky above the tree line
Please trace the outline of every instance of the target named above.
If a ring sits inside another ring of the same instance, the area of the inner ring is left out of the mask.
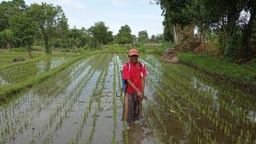
[[[5,0],[8,1],[8,0]],[[148,36],[163,33],[159,5],[150,4],[150,0],[24,0],[26,5],[32,3],[53,4],[61,6],[69,28],[88,29],[95,22],[104,22],[109,31],[116,35],[121,26],[128,25],[132,34],[138,36],[138,32],[147,30]],[[2,2],[2,0],[0,0]]]

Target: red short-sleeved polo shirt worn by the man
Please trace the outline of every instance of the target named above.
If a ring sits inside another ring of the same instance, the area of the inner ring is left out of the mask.
[[[130,70],[128,70],[127,64],[124,64],[123,66],[122,79],[123,80],[130,79],[134,84],[134,86],[136,86],[136,88],[138,88],[141,91],[141,81],[140,81],[141,74],[140,73],[142,72],[144,77],[147,76],[145,65],[142,62],[140,62],[140,64],[138,64],[138,67],[136,67],[130,61],[129,61],[129,64],[130,64]],[[142,68],[142,70],[140,70],[140,68]],[[136,93],[136,91],[128,84],[127,93],[129,94]]]

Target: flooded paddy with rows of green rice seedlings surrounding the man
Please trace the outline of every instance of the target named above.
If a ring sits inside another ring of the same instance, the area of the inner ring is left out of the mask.
[[[26,80],[8,71],[31,70],[34,76],[68,60],[56,57],[0,70],[0,86]],[[148,72],[145,95],[175,113],[143,100],[143,119],[130,128],[121,121],[123,94],[116,97],[127,54],[95,54],[1,102],[0,143],[256,144],[254,93],[151,54],[139,60]]]

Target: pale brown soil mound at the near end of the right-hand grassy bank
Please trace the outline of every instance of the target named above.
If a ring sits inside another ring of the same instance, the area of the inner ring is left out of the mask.
[[[178,62],[179,61],[178,52],[175,49],[168,48],[166,53],[160,58],[162,62]]]

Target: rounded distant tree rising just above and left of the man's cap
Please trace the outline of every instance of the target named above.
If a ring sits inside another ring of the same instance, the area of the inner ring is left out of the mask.
[[[122,44],[122,45],[131,44],[132,43],[131,33],[132,33],[132,30],[127,24],[125,26],[121,26],[117,34],[118,44]]]

